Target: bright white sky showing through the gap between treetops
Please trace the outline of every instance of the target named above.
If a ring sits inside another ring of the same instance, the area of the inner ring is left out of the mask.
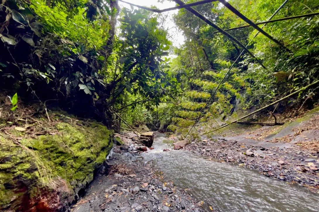
[[[157,0],[125,0],[126,2],[130,2],[132,4],[137,4],[141,6],[146,6],[150,7],[151,5],[156,6],[157,8],[161,9],[166,9],[169,7],[174,7],[176,6],[175,2],[169,2],[169,1],[164,1],[163,3],[158,3]],[[130,8],[129,4],[125,4],[123,2],[119,1],[119,5],[121,7],[127,7]],[[137,9],[137,8],[136,8]],[[182,32],[180,32],[177,27],[174,24],[174,21],[172,20],[172,14],[176,14],[178,10],[173,10],[173,11],[167,11],[163,12],[162,15],[166,16],[166,23],[164,23],[165,26],[168,28],[168,33],[169,33],[169,40],[173,42],[174,46],[180,46],[184,43],[184,36]]]

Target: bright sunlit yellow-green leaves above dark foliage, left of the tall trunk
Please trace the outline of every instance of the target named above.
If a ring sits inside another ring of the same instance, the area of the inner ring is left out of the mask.
[[[80,47],[68,45],[73,53],[100,49],[108,39],[109,24],[107,20],[91,21],[86,18],[88,0],[76,1],[76,6],[68,10],[68,4],[61,1],[52,7],[45,0],[31,0],[30,8],[40,17],[41,24],[47,32],[55,33],[59,38],[77,42]],[[101,17],[102,18],[102,17]]]

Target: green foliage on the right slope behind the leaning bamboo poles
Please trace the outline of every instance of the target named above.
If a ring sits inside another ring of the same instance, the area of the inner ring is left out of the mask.
[[[194,1],[186,1],[191,2]],[[254,22],[267,20],[283,2],[229,1]],[[194,9],[223,29],[247,25],[218,2],[194,6]],[[318,9],[318,4],[311,0],[288,1],[274,19],[317,12]],[[318,20],[313,16],[269,23],[264,27],[266,32],[284,43],[293,53],[287,53],[262,34],[255,37],[256,30],[252,27],[228,31],[241,43],[248,45],[250,51],[267,68],[262,68],[249,55],[244,54],[234,64],[218,91],[211,96],[241,49],[226,36],[214,33],[214,28],[185,9],[179,10],[174,16],[174,22],[182,30],[186,40],[182,46],[174,49],[177,57],[172,60],[172,70],[185,92],[178,98],[179,105],[183,108],[176,110],[174,116],[178,118],[173,118],[174,124],[179,126],[181,118],[195,120],[195,113],[204,107],[209,98],[211,101],[203,111],[200,121],[220,114],[232,115],[239,107],[244,110],[261,107],[317,80]],[[314,98],[317,93],[317,88],[300,93],[294,103],[302,104],[310,97]],[[173,125],[168,128],[180,131]]]

